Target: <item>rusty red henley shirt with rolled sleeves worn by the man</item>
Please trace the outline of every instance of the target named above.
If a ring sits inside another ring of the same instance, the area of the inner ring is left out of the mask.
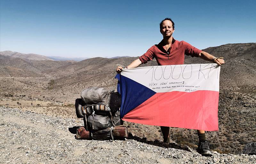
[[[146,53],[140,56],[140,61],[145,64],[156,58],[158,65],[178,65],[184,64],[184,55],[198,57],[199,53],[202,52],[202,50],[191,46],[189,43],[185,41],[178,41],[174,38],[172,39],[172,45],[168,52],[165,50],[163,45],[162,40],[159,44],[150,47]]]

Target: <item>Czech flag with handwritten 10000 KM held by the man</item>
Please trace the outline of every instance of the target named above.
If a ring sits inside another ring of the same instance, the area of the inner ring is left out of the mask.
[[[124,121],[217,131],[220,66],[189,64],[123,69],[117,74]]]

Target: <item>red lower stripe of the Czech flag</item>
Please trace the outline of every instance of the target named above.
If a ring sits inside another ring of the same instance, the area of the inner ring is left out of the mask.
[[[198,90],[156,93],[128,112],[128,122],[217,131],[219,92]]]

